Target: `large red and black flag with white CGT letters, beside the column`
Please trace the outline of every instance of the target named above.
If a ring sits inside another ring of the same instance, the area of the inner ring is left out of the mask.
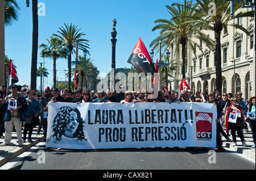
[[[140,70],[143,73],[155,73],[155,66],[151,60],[150,55],[147,52],[145,45],[143,44],[141,37],[137,41],[133,52],[127,61],[132,64],[135,68]]]

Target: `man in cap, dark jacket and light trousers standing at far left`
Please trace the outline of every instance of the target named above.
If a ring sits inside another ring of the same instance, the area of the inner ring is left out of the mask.
[[[22,95],[18,94],[18,86],[11,85],[11,94],[5,98],[5,104],[9,104],[10,99],[13,98],[16,102],[14,110],[8,110],[5,112],[5,142],[1,146],[9,145],[11,142],[11,132],[13,126],[15,126],[18,145],[22,145],[22,121],[25,120],[24,111],[27,109],[27,100]]]

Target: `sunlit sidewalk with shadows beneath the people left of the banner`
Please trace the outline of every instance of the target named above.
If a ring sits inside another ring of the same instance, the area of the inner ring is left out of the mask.
[[[32,146],[38,144],[38,142],[43,140],[43,129],[41,130],[41,134],[35,135],[35,133],[38,131],[38,128],[33,129],[33,133],[31,136],[31,140],[33,142],[23,142],[22,146],[19,146],[16,141],[17,139],[17,134],[16,132],[12,133],[12,140],[11,140],[11,145],[9,146],[0,146],[0,167],[2,165],[5,165],[5,163],[9,162],[11,159],[17,157],[18,155],[24,153],[26,150],[30,149]],[[5,134],[3,134],[5,136]],[[23,137],[23,130],[22,130],[22,137]],[[28,137],[28,134],[27,134]],[[0,144],[4,142],[5,139],[0,138]]]

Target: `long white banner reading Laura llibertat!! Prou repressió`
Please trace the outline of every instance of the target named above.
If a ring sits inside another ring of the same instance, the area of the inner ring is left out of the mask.
[[[48,148],[216,148],[210,103],[48,104]]]

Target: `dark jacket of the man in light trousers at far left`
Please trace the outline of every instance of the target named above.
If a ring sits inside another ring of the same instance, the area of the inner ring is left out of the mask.
[[[11,98],[10,94],[8,96],[8,98]],[[19,112],[19,116],[20,116],[20,121],[24,121],[25,120],[25,114],[24,111],[27,109],[27,100],[25,98],[23,98],[22,95],[17,94],[17,96],[15,97],[16,101],[17,101],[17,108],[18,108],[18,112]],[[6,103],[7,104],[7,103]],[[5,121],[10,121],[11,120],[11,111],[7,110],[6,107],[6,111],[5,111]]]

